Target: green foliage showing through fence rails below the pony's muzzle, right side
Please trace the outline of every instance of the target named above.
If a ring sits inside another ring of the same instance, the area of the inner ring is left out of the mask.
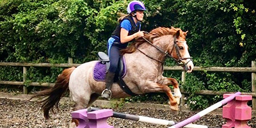
[[[203,76],[203,77],[198,77]],[[225,76],[225,77],[222,77]],[[212,91],[223,91],[223,92],[250,92],[250,88],[241,88],[238,86],[232,79],[230,79],[229,73],[208,73],[205,72],[197,72],[195,74],[187,74],[186,75],[186,83],[182,86],[182,88],[186,92],[191,92],[191,95],[188,95],[189,100],[186,101],[186,104],[189,105],[191,109],[202,108],[204,109],[207,105],[202,106],[199,99],[204,100],[207,104],[214,102],[218,102],[222,99],[222,97],[216,95],[215,97],[202,97],[200,95],[196,95],[195,92],[199,90],[212,90]],[[248,85],[248,81],[243,81],[243,84],[247,84],[245,87],[250,87]],[[195,102],[196,104],[195,104]]]

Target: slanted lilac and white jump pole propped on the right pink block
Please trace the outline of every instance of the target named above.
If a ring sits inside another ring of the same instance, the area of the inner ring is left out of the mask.
[[[209,108],[206,108],[203,111],[200,111],[196,115],[193,115],[193,116],[187,118],[186,120],[183,120],[182,122],[179,122],[178,124],[175,124],[172,127],[168,127],[168,128],[179,128],[179,127],[183,127],[184,125],[187,125],[191,122],[195,122],[195,120],[198,120],[199,118],[206,115],[207,113],[210,113],[214,109],[220,108],[224,104],[227,104],[227,102],[230,102],[231,100],[233,100],[237,95],[241,95],[241,92],[234,93],[233,95],[230,95],[226,99],[223,99],[220,102],[217,102],[216,104],[213,104]]]

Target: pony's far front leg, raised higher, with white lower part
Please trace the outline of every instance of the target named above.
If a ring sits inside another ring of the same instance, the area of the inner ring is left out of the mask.
[[[172,84],[173,92],[175,93],[175,99],[177,100],[177,104],[180,104],[180,98],[182,95],[180,93],[178,81],[174,78],[162,77],[162,79],[161,79],[161,81],[159,81],[159,83],[164,84],[166,86]]]

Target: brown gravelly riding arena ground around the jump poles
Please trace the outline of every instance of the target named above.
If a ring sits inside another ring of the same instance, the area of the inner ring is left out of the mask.
[[[56,111],[56,114],[50,113],[51,119],[45,120],[43,113],[40,110],[40,104],[36,102],[0,99],[0,127],[68,127],[71,120],[70,112],[73,111],[74,105],[70,103],[61,103],[59,107],[60,111]],[[195,115],[193,112],[179,112],[179,115],[173,115],[172,111],[157,108],[115,108],[114,111],[133,115],[150,116],[164,120],[173,120],[175,122],[179,122],[189,116]],[[108,122],[110,125],[120,128],[166,127],[163,125],[146,124],[119,118],[109,118]],[[225,119],[220,115],[206,115],[200,120],[194,122],[194,124],[207,125],[208,127],[221,127],[221,125],[225,124]],[[252,118],[252,120],[248,122],[248,125],[252,128],[256,128],[256,118]]]

